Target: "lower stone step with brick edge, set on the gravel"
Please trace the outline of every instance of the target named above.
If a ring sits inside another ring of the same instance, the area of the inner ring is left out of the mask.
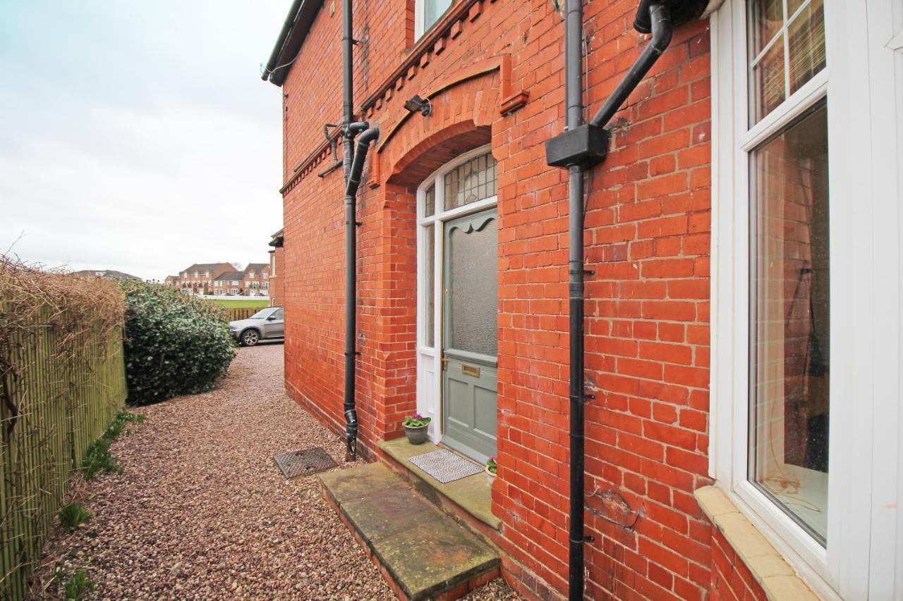
[[[455,599],[498,578],[498,553],[381,463],[321,474],[326,499],[402,599]]]

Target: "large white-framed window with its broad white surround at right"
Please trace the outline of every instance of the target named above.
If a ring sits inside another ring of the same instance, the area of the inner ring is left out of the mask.
[[[710,474],[826,598],[903,594],[901,24],[881,0],[712,15]]]

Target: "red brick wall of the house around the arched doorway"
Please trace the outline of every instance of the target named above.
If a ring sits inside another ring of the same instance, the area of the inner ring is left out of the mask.
[[[413,2],[355,2],[355,110],[382,137],[358,196],[359,448],[403,435],[416,402],[415,190],[461,153],[498,161],[498,477],[505,578],[530,597],[567,589],[566,171],[561,17],[547,0],[462,0],[414,41]],[[345,279],[340,3],[325,3],[284,82],[285,378],[330,429],[342,415]],[[635,0],[585,6],[590,111],[647,38]],[[405,99],[439,90],[433,115]],[[509,106],[503,113],[501,107]],[[611,125],[588,175],[586,587],[592,598],[761,598],[694,501],[708,469],[710,58],[686,23]],[[340,157],[339,157],[340,158]]]

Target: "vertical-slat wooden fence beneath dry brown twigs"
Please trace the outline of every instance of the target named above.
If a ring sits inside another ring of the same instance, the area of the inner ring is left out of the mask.
[[[126,402],[121,326],[94,332],[73,356],[36,320],[6,332],[0,353],[12,366],[0,371],[0,599],[26,595],[73,470]]]

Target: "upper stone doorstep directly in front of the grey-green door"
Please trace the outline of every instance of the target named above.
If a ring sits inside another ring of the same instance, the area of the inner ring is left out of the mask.
[[[443,447],[429,441],[412,445],[405,438],[382,440],[378,447],[388,466],[418,493],[477,532],[485,541],[495,539],[502,521],[492,513],[492,478],[489,475],[483,472],[442,484],[408,459]]]

